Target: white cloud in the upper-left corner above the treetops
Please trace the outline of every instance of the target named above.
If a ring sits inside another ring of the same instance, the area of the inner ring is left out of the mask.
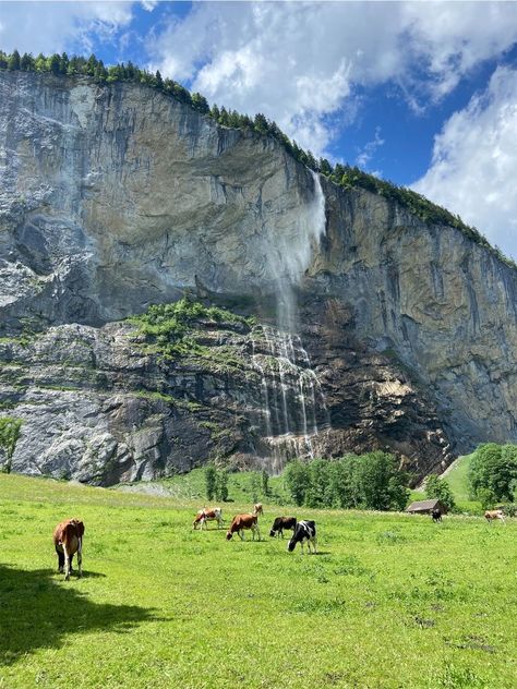
[[[132,2],[1,2],[0,46],[11,52],[88,52],[131,21]]]

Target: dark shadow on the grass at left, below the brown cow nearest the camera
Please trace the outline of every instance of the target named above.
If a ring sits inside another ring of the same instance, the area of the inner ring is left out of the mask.
[[[94,603],[76,583],[74,575],[64,581],[48,569],[0,565],[0,666],[37,649],[60,649],[71,633],[124,633],[158,619],[152,608]]]

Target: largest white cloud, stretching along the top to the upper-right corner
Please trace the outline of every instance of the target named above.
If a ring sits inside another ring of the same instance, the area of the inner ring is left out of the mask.
[[[419,111],[516,40],[516,3],[197,3],[154,35],[152,52],[166,75],[264,112],[321,154],[358,86],[395,82]]]

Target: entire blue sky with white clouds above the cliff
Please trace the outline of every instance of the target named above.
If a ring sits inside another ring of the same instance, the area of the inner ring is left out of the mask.
[[[2,2],[0,47],[159,69],[517,258],[517,3]]]

